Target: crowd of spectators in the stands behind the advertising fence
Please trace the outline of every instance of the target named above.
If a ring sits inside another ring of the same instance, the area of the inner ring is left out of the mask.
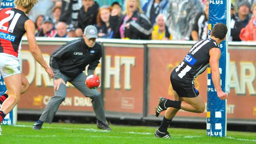
[[[96,26],[98,37],[107,39],[198,41],[208,37],[208,0],[111,0],[111,5],[104,6],[97,0],[46,1],[39,0],[29,15],[35,22],[37,37],[82,37],[88,25]],[[256,0],[234,3],[228,40],[256,41]],[[50,13],[42,11],[40,5]],[[180,11],[173,17],[170,12],[175,9]],[[177,36],[176,22],[181,22],[180,33],[186,36]]]

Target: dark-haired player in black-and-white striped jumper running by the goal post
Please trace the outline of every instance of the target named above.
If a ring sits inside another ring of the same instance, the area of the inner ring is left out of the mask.
[[[204,112],[204,101],[195,88],[194,79],[204,72],[209,64],[217,96],[221,100],[228,99],[227,94],[221,90],[219,72],[219,58],[221,57],[219,44],[226,39],[227,30],[226,25],[222,23],[215,24],[211,31],[211,37],[196,42],[180,65],[174,68],[171,73],[174,100],[161,97],[159,98],[158,107],[155,108],[156,116],[167,110],[161,126],[155,132],[156,137],[171,138],[167,127],[180,109],[192,113]]]

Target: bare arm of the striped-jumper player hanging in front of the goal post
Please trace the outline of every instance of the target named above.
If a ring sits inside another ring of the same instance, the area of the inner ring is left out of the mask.
[[[213,85],[217,91],[217,95],[221,100],[228,99],[227,94],[221,89],[221,75],[219,72],[219,59],[221,57],[221,50],[219,48],[210,49],[210,61],[211,66],[211,79]]]

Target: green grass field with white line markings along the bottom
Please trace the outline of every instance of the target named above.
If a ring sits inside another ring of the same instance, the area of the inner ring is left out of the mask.
[[[44,124],[40,131],[33,122],[2,126],[1,144],[256,144],[256,133],[228,131],[227,137],[207,137],[204,129],[169,128],[172,139],[154,136],[157,127],[111,125],[112,131],[96,124]]]

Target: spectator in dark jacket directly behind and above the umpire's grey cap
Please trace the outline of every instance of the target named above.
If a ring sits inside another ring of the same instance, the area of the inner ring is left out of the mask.
[[[77,37],[82,37],[86,26],[96,25],[98,8],[99,6],[94,0],[83,0],[83,6],[78,13]]]

